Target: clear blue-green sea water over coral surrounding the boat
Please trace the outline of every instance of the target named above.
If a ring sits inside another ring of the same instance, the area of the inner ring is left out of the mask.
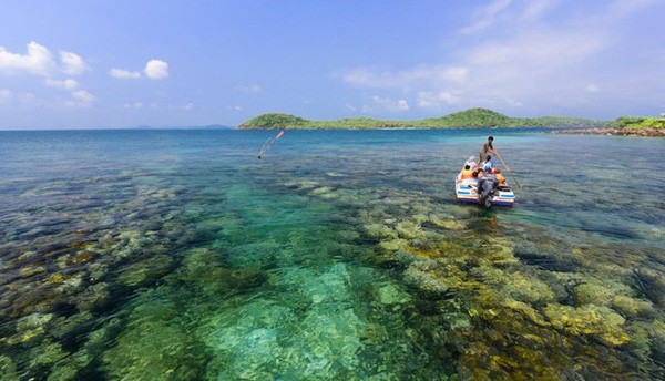
[[[662,140],[273,133],[0,133],[0,378],[665,375]]]

